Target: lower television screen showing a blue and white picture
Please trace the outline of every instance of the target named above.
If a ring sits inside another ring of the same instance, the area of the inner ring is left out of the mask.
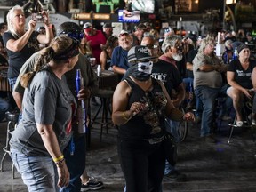
[[[139,11],[129,12],[127,10],[119,10],[118,21],[119,22],[139,22],[140,12]]]

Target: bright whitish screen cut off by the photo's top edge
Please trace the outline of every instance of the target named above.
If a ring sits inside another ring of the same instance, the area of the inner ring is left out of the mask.
[[[132,10],[140,11],[141,13],[154,13],[155,0],[133,0]]]

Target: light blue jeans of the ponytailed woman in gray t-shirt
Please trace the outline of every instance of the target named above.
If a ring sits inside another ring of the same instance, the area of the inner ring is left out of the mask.
[[[11,148],[12,162],[28,191],[57,192],[58,173],[51,156],[25,156]]]

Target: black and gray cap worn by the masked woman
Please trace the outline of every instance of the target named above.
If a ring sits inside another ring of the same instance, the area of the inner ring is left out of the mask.
[[[128,62],[132,63],[140,60],[152,60],[152,57],[146,46],[138,45],[132,47],[128,52]]]

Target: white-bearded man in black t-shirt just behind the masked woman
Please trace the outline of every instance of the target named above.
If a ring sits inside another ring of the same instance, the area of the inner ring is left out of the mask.
[[[141,44],[146,45],[144,38],[142,39]],[[164,86],[172,99],[172,103],[176,108],[180,107],[181,102],[185,98],[184,85],[176,65],[177,61],[182,60],[182,50],[180,36],[166,36],[164,43],[162,44],[162,51],[164,54],[159,57],[159,60],[156,63],[154,63],[151,75],[164,83]],[[171,124],[171,127],[166,126],[166,131],[171,132],[175,141],[179,142],[179,123],[170,119],[167,119],[167,121]],[[175,170],[175,164],[169,164],[168,162],[165,164],[164,175],[174,180],[184,180],[186,178],[185,174],[181,174]]]

